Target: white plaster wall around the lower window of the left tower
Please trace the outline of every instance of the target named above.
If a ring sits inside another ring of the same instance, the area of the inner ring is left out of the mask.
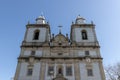
[[[27,63],[21,64],[20,74],[18,80],[39,80],[40,76],[40,63],[35,63],[33,67],[33,75],[27,76]]]

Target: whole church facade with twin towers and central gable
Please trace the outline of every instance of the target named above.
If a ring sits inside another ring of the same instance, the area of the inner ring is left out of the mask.
[[[105,80],[95,25],[78,16],[69,38],[51,35],[44,16],[28,23],[14,80]]]

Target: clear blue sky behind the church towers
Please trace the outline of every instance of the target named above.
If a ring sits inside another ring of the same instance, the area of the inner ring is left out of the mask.
[[[93,21],[103,64],[120,62],[120,0],[0,0],[0,80],[14,77],[26,24],[41,14],[55,34],[70,33],[78,15]]]

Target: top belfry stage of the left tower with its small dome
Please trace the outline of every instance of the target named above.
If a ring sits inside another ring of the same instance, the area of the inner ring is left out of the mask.
[[[26,33],[24,42],[31,43],[31,42],[48,42],[50,39],[50,26],[46,22],[44,16],[39,16],[36,19],[36,24],[28,23],[26,25]],[[23,42],[23,43],[24,43]]]

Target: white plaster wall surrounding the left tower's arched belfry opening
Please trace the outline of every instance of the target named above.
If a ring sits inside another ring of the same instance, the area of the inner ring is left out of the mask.
[[[39,40],[33,40],[35,30],[40,30]],[[44,42],[45,39],[46,39],[46,28],[29,28],[28,29],[26,42]]]

